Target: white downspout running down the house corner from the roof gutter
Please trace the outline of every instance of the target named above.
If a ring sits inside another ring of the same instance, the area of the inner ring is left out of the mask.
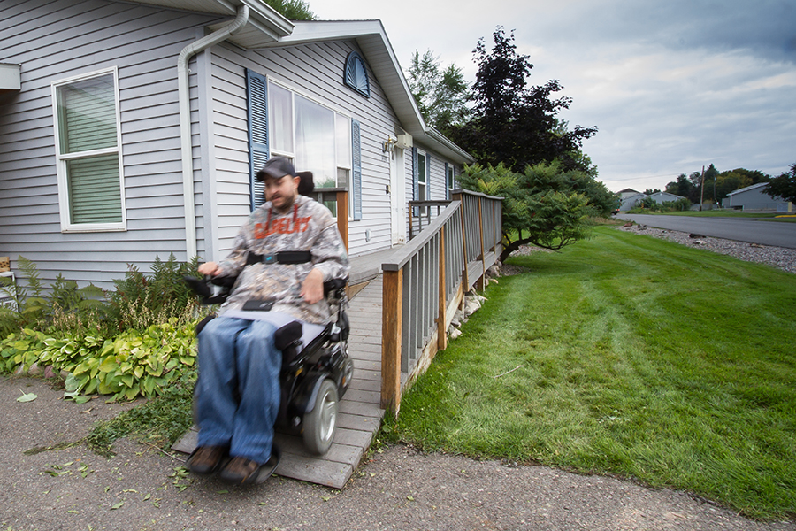
[[[188,85],[188,61],[200,51],[210,48],[233,35],[249,21],[249,6],[241,5],[238,15],[229,26],[188,44],[177,59],[177,89],[180,100],[180,142],[182,150],[182,194],[185,203],[186,261],[196,256],[196,212],[194,197],[193,142],[191,142],[191,98]]]

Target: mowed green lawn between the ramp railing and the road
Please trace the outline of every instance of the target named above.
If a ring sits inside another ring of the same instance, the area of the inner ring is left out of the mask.
[[[796,512],[796,275],[608,227],[509,263],[385,435]]]

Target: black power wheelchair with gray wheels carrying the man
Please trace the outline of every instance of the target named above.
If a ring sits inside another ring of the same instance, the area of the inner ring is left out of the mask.
[[[202,304],[223,303],[235,280],[236,277],[185,278],[201,296]],[[348,279],[324,283],[333,319],[325,326],[308,326],[322,329],[306,333],[301,321],[292,320],[274,334],[275,346],[282,351],[281,400],[274,427],[290,435],[301,435],[304,447],[316,455],[325,454],[332,445],[338,404],[354,373],[354,362],[348,356],[347,285]],[[214,317],[213,314],[203,319],[196,334]]]

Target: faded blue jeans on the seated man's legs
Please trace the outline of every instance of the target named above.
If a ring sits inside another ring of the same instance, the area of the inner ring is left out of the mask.
[[[275,331],[265,321],[221,316],[199,333],[199,446],[228,446],[231,456],[261,464],[271,457],[282,365]]]

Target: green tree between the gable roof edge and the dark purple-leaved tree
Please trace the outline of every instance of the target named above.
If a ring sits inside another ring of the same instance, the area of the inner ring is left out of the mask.
[[[461,126],[467,116],[467,83],[456,65],[442,68],[440,58],[431,50],[423,56],[415,50],[409,66],[409,89],[427,124],[447,134],[452,126]]]

